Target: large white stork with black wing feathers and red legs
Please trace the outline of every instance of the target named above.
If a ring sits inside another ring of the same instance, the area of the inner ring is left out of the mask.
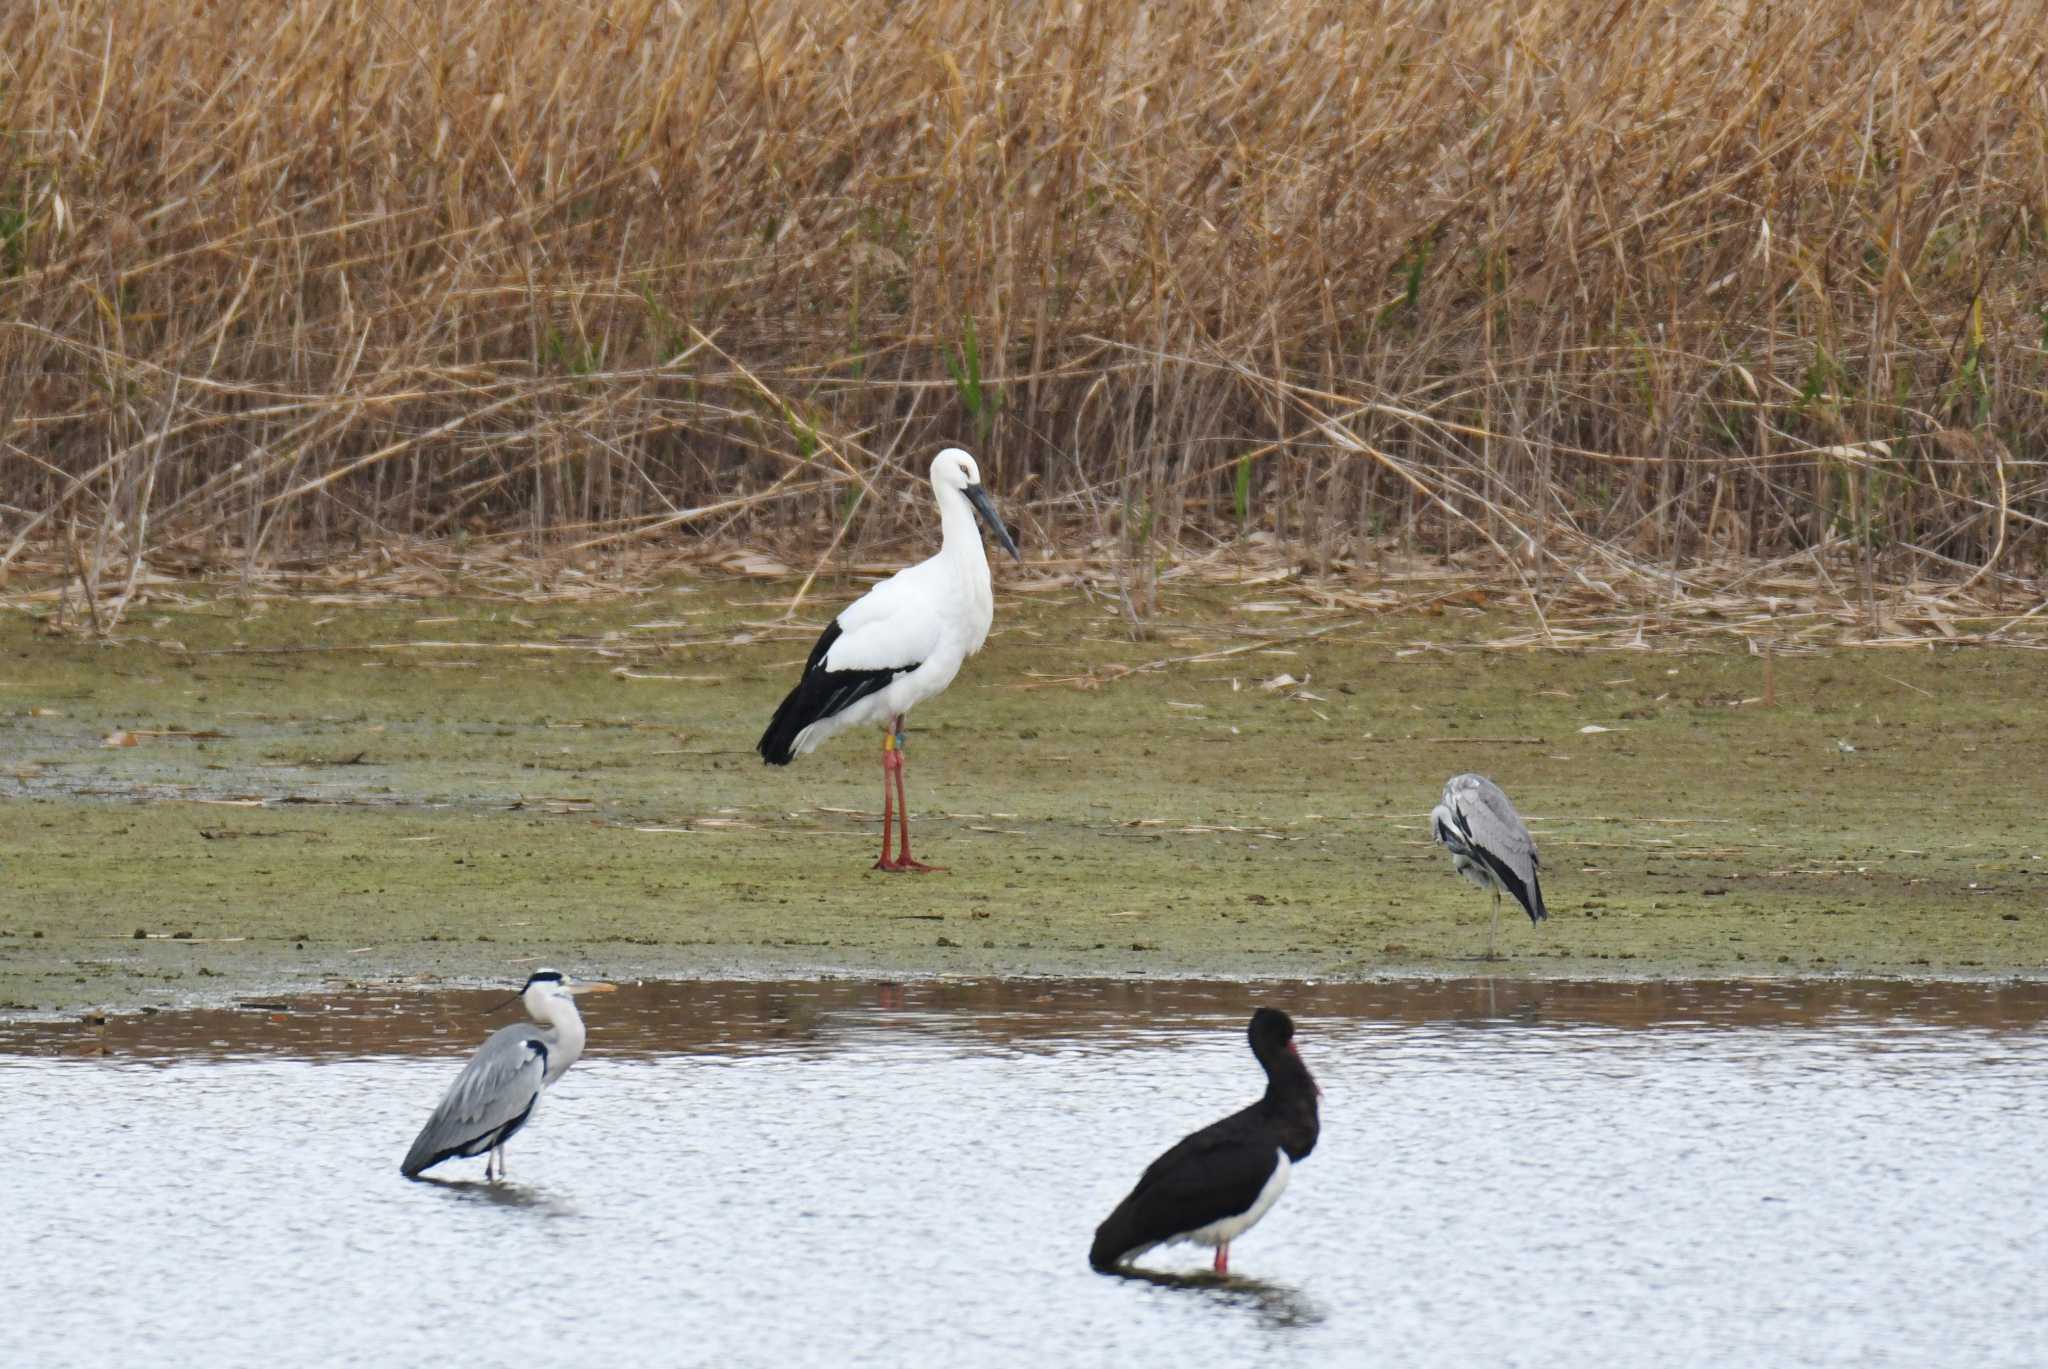
[[[1010,555],[1024,559],[981,488],[981,467],[958,447],[932,459],[932,496],[944,535],[938,555],[889,576],[825,627],[803,678],[782,699],[758,746],[768,764],[788,764],[842,728],[883,723],[883,855],[874,869],[885,871],[940,869],[909,853],[903,715],[946,689],[961,662],[989,637],[995,592],[975,514]],[[889,855],[891,814],[903,834],[895,857]]]

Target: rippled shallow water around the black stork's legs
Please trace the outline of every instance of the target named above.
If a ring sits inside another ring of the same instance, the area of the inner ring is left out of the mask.
[[[2023,1365],[2048,990],[657,984],[512,1183],[397,1160],[502,994],[0,1029],[14,1365]],[[1094,1223],[1260,1088],[1323,1142],[1214,1281]],[[18,1301],[14,1301],[18,1299]],[[547,1353],[541,1351],[545,1359]]]

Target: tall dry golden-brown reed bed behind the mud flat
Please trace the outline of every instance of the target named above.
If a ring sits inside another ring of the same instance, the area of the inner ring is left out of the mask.
[[[0,574],[360,539],[2040,574],[1999,0],[16,0]],[[2025,586],[2021,586],[2025,588]],[[1870,611],[1876,621],[1876,611]]]

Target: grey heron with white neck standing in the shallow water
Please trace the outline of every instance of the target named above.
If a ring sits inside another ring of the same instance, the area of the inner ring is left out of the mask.
[[[532,1021],[500,1027],[471,1055],[406,1152],[399,1172],[418,1178],[442,1160],[487,1156],[483,1178],[504,1178],[506,1142],[532,1117],[541,1092],[584,1053],[584,1017],[575,1010],[575,994],[608,992],[610,984],[571,980],[559,969],[526,976],[516,998]]]

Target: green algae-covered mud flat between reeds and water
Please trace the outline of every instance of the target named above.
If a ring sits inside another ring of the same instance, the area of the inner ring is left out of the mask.
[[[1489,904],[1442,781],[1530,818],[1552,918],[1499,973],[2040,973],[2028,652],[1495,652],[1450,611],[1286,619],[1004,594],[911,717],[918,853],[872,873],[877,748],[754,756],[815,623],[760,582],[602,603],[207,596],[119,644],[0,615],[0,1010],[326,978],[1470,973]],[[1219,652],[1235,654],[1219,656]],[[1147,662],[1157,670],[1124,672]],[[1597,732],[1604,728],[1604,732]],[[117,742],[117,744],[109,744]],[[133,742],[133,744],[119,744]],[[182,937],[180,937],[182,935]]]

